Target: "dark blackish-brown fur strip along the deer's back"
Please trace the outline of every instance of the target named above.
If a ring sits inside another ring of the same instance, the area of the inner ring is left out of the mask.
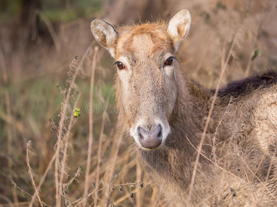
[[[234,81],[229,83],[225,88],[218,91],[219,97],[239,97],[241,95],[247,95],[253,90],[269,88],[277,83],[277,72],[265,72],[261,76],[249,77],[240,81]],[[214,93],[215,90],[212,90]]]

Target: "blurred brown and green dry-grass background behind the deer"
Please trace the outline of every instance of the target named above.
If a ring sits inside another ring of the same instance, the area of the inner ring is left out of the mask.
[[[192,25],[179,47],[178,57],[184,62],[184,70],[204,86],[213,88],[217,83],[234,37],[222,86],[249,75],[277,70],[277,2],[274,0],[0,1],[0,206],[28,206],[35,193],[26,162],[29,140],[33,147],[29,164],[36,184],[49,166],[39,190],[40,198],[45,205],[55,206],[55,166],[49,163],[57,143],[55,126],[60,121],[58,115],[64,98],[61,92],[69,87],[66,80],[71,80],[68,72],[72,61],[80,72],[71,82],[75,91],[71,108],[78,97],[81,115],[74,119],[68,137],[68,177],[64,177],[64,183],[74,177],[78,167],[82,173],[76,175],[63,193],[62,205],[93,205],[96,191],[99,206],[105,202],[111,206],[163,205],[157,188],[151,186],[136,161],[136,153],[128,149],[125,141],[118,152],[115,150],[116,113],[108,114],[102,106],[109,103],[114,108],[112,86],[116,70],[113,59],[103,48],[99,48],[94,59],[93,104],[100,109],[93,112],[91,164],[89,179],[85,179],[89,143],[86,108],[93,51],[98,46],[90,23],[102,19],[121,26],[166,20],[184,8],[192,15]],[[66,120],[68,126],[69,119]],[[117,159],[113,165],[114,156]],[[110,174],[112,178],[107,179],[106,175]],[[86,185],[93,196],[84,197]],[[105,197],[107,188],[110,192]],[[39,201],[34,205],[39,206]]]

